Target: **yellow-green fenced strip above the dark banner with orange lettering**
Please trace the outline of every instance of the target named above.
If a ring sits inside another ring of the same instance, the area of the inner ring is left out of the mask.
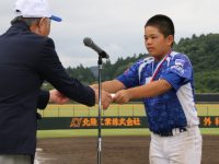
[[[197,104],[198,116],[219,116],[219,104]],[[79,104],[48,105],[45,110],[38,110],[43,117],[97,116],[97,106],[88,107]],[[113,104],[102,116],[145,116],[142,104]]]

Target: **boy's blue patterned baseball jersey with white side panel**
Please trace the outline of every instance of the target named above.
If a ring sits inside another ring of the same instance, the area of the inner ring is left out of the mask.
[[[186,55],[172,51],[163,62],[153,57],[141,59],[117,78],[127,89],[147,85],[151,78],[166,80],[172,89],[164,94],[143,98],[143,104],[153,132],[199,124],[194,103],[193,67]],[[160,66],[155,75],[157,67]]]

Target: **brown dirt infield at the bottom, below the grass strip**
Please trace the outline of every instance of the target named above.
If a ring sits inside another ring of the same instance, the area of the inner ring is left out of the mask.
[[[201,164],[219,164],[219,136],[204,136]],[[96,138],[39,139],[35,164],[96,164]],[[148,164],[150,137],[103,137],[102,164]]]

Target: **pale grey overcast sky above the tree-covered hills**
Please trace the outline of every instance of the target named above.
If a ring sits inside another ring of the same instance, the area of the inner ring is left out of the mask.
[[[14,17],[15,0],[0,5],[0,34]],[[143,25],[154,14],[166,14],[175,24],[175,39],[219,32],[218,0],[49,0],[54,14],[62,17],[53,22],[49,37],[65,67],[96,66],[97,55],[83,46],[91,37],[115,62],[118,57],[147,52]]]

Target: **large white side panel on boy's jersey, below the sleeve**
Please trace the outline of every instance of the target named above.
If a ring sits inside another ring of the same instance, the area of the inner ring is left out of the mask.
[[[177,90],[176,96],[181,103],[181,106],[183,107],[187,120],[187,127],[198,126],[199,120],[197,117],[197,109],[195,107],[193,89],[191,83],[182,85]]]

